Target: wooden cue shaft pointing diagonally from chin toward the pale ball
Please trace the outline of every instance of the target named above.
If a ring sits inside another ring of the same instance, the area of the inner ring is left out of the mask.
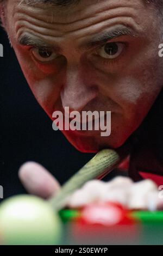
[[[120,155],[115,150],[103,149],[99,151],[84,167],[78,170],[48,202],[54,210],[64,208],[71,194],[82,187],[85,182],[101,178],[111,172],[120,162]]]

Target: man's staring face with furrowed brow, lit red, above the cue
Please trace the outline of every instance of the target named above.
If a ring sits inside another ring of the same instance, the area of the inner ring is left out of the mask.
[[[51,119],[64,107],[111,111],[109,137],[95,130],[63,133],[83,152],[120,147],[163,84],[154,9],[141,0],[82,0],[69,7],[20,2],[7,1],[6,29],[37,101]]]

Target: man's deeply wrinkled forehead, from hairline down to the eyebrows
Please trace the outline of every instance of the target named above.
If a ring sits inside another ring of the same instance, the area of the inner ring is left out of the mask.
[[[149,13],[141,0],[81,0],[66,7],[46,3],[27,4],[9,0],[8,17],[16,36],[32,33],[46,40],[68,36],[81,39],[105,28],[125,25],[137,31],[147,28]]]

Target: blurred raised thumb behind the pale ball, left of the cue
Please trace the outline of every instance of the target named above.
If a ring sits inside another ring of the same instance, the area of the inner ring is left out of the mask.
[[[18,171],[18,176],[29,193],[44,199],[51,197],[60,188],[53,175],[35,162],[24,163]]]

